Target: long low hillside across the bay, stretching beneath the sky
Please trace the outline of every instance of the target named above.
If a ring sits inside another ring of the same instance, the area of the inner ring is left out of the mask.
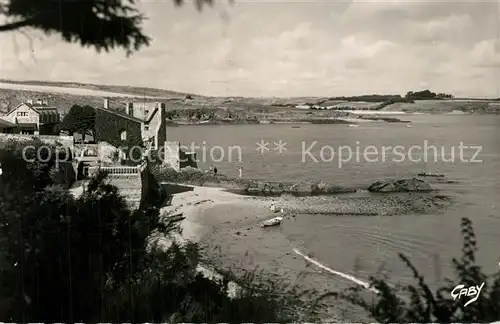
[[[3,85],[5,86],[3,86]],[[8,89],[8,87],[17,87]],[[83,91],[85,90],[85,91]],[[85,95],[82,95],[84,93]],[[65,113],[74,104],[101,106],[103,97],[111,97],[112,109],[124,110],[128,101],[163,101],[169,109],[186,110],[208,108],[259,117],[262,114],[283,113],[311,117],[319,112],[296,109],[297,105],[344,105],[348,108],[385,106],[383,111],[407,111],[424,113],[449,113],[454,110],[474,113],[499,113],[498,100],[417,100],[404,101],[398,95],[365,95],[356,97],[293,97],[293,98],[246,98],[209,97],[163,89],[117,85],[96,85],[74,82],[10,81],[0,80],[0,113],[5,113],[28,99],[45,99]],[[325,114],[325,113],[321,113]],[[308,116],[306,116],[308,115]],[[325,116],[322,116],[325,117]]]

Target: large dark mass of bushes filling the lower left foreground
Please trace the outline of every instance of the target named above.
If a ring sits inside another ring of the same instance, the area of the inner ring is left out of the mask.
[[[2,152],[4,174],[16,167],[9,155],[19,158],[17,149]],[[74,198],[51,183],[45,165],[19,165],[18,178],[38,179],[39,185],[18,186],[12,176],[1,180],[0,320],[296,320],[294,296],[247,291],[231,299],[228,280],[212,281],[197,272],[196,245],[156,245],[150,234],[169,237],[178,230],[175,220],[160,217],[154,204],[131,212],[105,174]]]

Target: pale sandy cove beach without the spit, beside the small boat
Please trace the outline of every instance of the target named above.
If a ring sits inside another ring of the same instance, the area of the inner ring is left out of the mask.
[[[293,286],[299,290],[312,289],[317,294],[340,291],[354,284],[342,278],[342,274],[325,271],[294,252],[298,249],[314,258],[300,246],[293,246],[285,235],[287,224],[295,221],[294,213],[285,211],[280,226],[258,226],[261,221],[280,215],[273,213],[270,206],[273,202],[278,207],[284,206],[285,200],[241,196],[219,188],[191,188],[192,191],[175,194],[164,211],[171,215],[182,213],[185,217],[178,239],[196,242],[203,249],[204,267],[200,269],[203,272],[207,273],[205,266],[230,270],[238,277],[255,271],[264,280],[282,282],[284,289]],[[337,304],[328,312],[329,316],[352,313],[346,307]],[[352,320],[355,319],[360,318]]]

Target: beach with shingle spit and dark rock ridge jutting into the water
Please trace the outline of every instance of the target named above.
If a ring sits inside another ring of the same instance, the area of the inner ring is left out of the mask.
[[[368,223],[395,217],[397,222],[398,216],[438,215],[453,204],[452,198],[435,193],[427,182],[411,177],[379,181],[372,184],[369,191],[321,181],[282,183],[231,179],[194,168],[176,172],[155,166],[151,171],[165,187],[173,188],[173,199],[163,211],[166,217],[182,218],[182,237],[173,239],[199,244],[203,251],[200,272],[217,277],[217,273],[230,270],[236,277],[244,277],[260,269],[267,278],[284,280],[289,287],[313,295],[341,291],[353,283],[322,272],[294,253],[298,248],[307,254],[307,246],[302,246],[293,234],[298,231],[297,226],[307,224],[306,220],[331,219],[332,224],[339,226],[349,225],[349,218],[353,217]],[[332,195],[335,193],[350,194]],[[260,222],[277,215],[271,211],[272,205],[283,209],[283,213],[278,213],[283,221],[275,228],[262,229]],[[169,244],[172,239],[162,240]],[[333,267],[342,271],[342,267],[339,268]],[[350,306],[338,302],[329,304],[325,319],[345,319],[342,314],[346,307]],[[364,315],[360,316],[349,320],[367,321]]]

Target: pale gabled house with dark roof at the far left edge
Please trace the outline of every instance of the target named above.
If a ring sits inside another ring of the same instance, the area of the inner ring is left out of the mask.
[[[15,125],[9,127],[11,133],[32,135],[57,135],[61,121],[57,108],[42,100],[28,100],[0,118]]]

